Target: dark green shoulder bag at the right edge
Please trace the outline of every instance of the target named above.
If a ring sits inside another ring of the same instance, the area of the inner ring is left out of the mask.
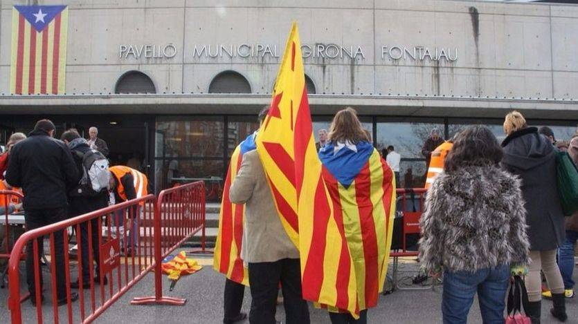
[[[568,152],[556,153],[556,181],[564,216],[578,210],[578,169]]]

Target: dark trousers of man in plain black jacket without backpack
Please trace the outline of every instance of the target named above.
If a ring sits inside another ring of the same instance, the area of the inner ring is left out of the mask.
[[[66,208],[57,209],[30,209],[26,211],[24,216],[26,221],[26,230],[37,229],[46,225],[54,224],[66,219]],[[49,238],[50,236],[46,236]],[[37,238],[38,253],[34,255],[33,242],[31,240],[26,245],[26,282],[28,283],[28,291],[30,297],[35,298],[35,278],[34,278],[34,259],[42,256],[44,249],[44,238]],[[54,255],[51,262],[55,263],[56,267],[56,295],[57,298],[64,298],[66,296],[66,277],[64,276],[66,269],[64,269],[64,236],[63,231],[55,231],[54,233]],[[42,269],[38,269],[40,274],[40,292],[42,292]]]

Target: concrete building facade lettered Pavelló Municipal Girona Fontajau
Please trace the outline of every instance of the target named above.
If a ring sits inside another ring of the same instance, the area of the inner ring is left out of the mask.
[[[419,185],[432,128],[450,137],[481,123],[503,135],[500,119],[518,109],[568,139],[578,122],[578,6],[571,4],[64,1],[64,77],[43,94],[41,37],[33,58],[27,37],[46,14],[34,8],[24,44],[17,38],[17,26],[26,25],[18,15],[26,15],[15,6],[33,3],[63,4],[0,1],[0,143],[40,117],[59,132],[98,126],[111,160],[139,161],[157,190],[204,179],[218,199],[228,156],[269,103],[291,21],[300,30],[315,130],[353,106],[379,149],[401,153],[402,186]],[[26,64],[34,60],[36,72]]]

